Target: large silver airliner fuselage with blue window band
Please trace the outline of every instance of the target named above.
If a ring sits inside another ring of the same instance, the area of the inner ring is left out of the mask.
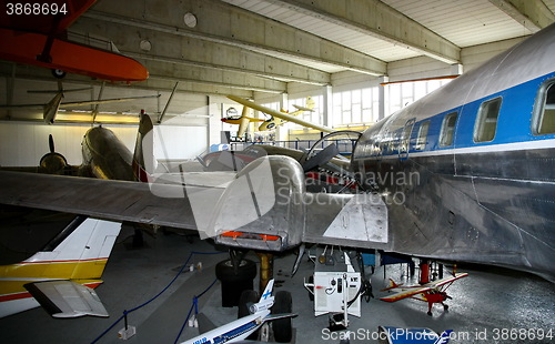
[[[392,251],[553,272],[553,57],[555,26],[363,133],[352,168]]]

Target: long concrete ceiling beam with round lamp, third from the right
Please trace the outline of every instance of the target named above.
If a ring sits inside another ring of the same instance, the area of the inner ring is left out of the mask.
[[[103,1],[83,17],[239,47],[268,55],[285,54],[310,62],[327,63],[361,73],[382,75],[386,63],[315,34],[214,0],[182,0],[170,8],[162,0]],[[196,23],[190,28],[184,14]]]

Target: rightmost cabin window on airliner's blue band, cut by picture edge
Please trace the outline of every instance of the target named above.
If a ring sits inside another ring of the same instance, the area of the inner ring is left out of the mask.
[[[539,89],[534,113],[533,129],[536,135],[555,133],[555,79]]]

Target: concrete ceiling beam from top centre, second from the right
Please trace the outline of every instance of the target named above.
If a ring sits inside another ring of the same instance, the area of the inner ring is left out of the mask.
[[[406,47],[448,64],[461,63],[461,48],[379,0],[265,1]]]

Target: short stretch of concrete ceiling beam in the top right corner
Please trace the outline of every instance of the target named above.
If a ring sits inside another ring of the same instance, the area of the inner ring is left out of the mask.
[[[490,0],[490,2],[532,33],[536,33],[555,21],[555,14],[553,14],[543,1]]]

